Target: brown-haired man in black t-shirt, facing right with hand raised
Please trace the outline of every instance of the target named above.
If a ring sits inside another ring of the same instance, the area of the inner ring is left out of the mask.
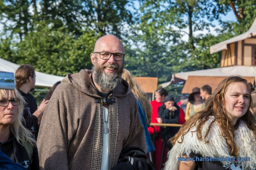
[[[29,93],[29,91],[34,90],[35,83],[36,74],[33,66],[26,64],[17,69],[15,73],[15,86],[26,101],[23,111],[23,117],[25,118],[26,123],[25,126],[32,131],[34,139],[37,139],[39,131],[38,117],[43,114],[48,100],[43,100],[37,107],[36,100]]]

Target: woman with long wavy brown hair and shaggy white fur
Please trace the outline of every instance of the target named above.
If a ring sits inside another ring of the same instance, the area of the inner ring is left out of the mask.
[[[256,124],[251,104],[251,86],[245,79],[224,79],[207,106],[171,139],[174,147],[165,169],[256,169]]]

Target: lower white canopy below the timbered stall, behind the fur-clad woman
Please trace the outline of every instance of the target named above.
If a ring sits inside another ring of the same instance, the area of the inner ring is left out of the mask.
[[[172,74],[172,79],[169,82],[161,84],[163,88],[169,86],[170,84],[179,83],[186,81],[188,76],[216,76],[225,77],[230,75],[241,75],[243,77],[255,77],[256,80],[256,66],[230,66],[230,67],[220,67],[207,70],[198,70],[192,72],[183,72]]]

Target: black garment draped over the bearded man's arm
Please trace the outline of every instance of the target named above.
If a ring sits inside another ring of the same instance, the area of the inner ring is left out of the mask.
[[[111,170],[155,170],[148,155],[139,147],[125,147]]]

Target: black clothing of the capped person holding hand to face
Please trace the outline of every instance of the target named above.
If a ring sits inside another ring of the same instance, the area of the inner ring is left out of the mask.
[[[162,104],[162,106],[158,108],[158,117],[162,119],[162,123],[179,124],[178,118],[180,117],[180,107],[178,107],[176,103],[174,103],[174,107],[177,108],[174,112],[166,109],[165,104]],[[180,127],[160,127],[162,140],[165,142],[168,149],[172,148],[171,143],[168,142],[168,140],[179,130]]]

